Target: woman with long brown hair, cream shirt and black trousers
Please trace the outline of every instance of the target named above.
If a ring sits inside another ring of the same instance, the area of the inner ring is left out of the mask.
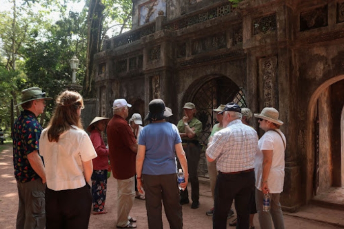
[[[49,126],[39,139],[47,177],[47,229],[87,229],[91,211],[92,159],[97,156],[81,124],[82,96],[62,92]]]

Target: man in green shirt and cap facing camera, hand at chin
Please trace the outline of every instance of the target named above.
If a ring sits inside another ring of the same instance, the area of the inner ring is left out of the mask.
[[[202,131],[202,123],[195,117],[196,106],[192,102],[185,103],[184,116],[178,122],[177,128],[182,140],[183,149],[185,151],[188,162],[189,180],[191,183],[191,208],[196,209],[200,206],[200,184],[198,180],[198,164],[200,161],[200,142],[199,135]],[[189,192],[186,188],[180,191],[180,204],[189,203]]]

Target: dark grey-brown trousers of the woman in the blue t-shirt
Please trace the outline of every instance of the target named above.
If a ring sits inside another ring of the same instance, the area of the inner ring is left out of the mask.
[[[162,206],[170,229],[183,228],[183,212],[179,204],[179,189],[176,174],[146,175],[143,174],[143,188],[146,198],[148,228],[163,229]]]

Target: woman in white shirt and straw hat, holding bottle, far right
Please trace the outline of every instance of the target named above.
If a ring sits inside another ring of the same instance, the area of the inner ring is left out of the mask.
[[[284,219],[280,204],[285,176],[286,137],[280,130],[283,122],[279,112],[273,107],[265,107],[258,118],[259,127],[265,131],[258,141],[258,152],[255,161],[256,205],[260,228],[284,229]],[[270,211],[263,211],[263,196],[270,196]]]

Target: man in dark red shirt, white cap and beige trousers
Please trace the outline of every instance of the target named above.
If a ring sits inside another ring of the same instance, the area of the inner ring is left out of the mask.
[[[117,179],[117,228],[136,228],[135,218],[129,212],[135,199],[135,161],[138,144],[133,131],[125,120],[131,104],[116,99],[113,104],[114,117],[107,128],[110,163]]]

